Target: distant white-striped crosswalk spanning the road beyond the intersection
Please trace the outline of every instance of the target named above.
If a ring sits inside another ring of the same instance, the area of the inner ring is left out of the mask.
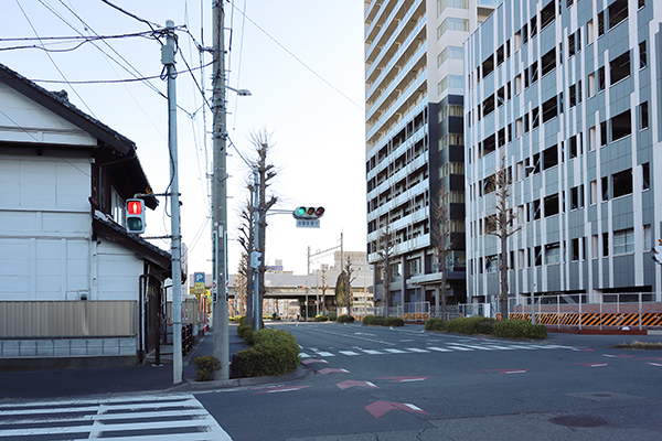
[[[334,357],[337,355],[356,356],[356,355],[388,355],[388,354],[426,354],[426,353],[452,353],[452,352],[469,352],[469,351],[538,351],[538,349],[573,349],[572,346],[562,345],[543,345],[543,344],[469,344],[469,343],[448,343],[444,347],[425,346],[425,347],[385,347],[380,349],[364,349],[353,347],[338,352],[321,351],[317,347],[301,347],[299,355],[301,358],[309,357]]]

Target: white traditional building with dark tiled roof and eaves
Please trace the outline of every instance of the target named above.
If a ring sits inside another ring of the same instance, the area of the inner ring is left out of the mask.
[[[0,367],[135,364],[154,347],[170,255],[124,227],[125,200],[148,189],[132,141],[0,65]]]

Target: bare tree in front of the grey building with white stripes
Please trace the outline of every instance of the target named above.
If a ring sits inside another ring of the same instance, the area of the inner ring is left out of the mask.
[[[496,236],[501,246],[499,258],[499,301],[501,303],[501,316],[508,319],[508,239],[522,228],[516,225],[517,211],[512,202],[513,176],[505,164],[505,153],[501,154],[499,166],[492,178],[494,180],[494,195],[491,208],[494,214],[485,218],[487,233]]]

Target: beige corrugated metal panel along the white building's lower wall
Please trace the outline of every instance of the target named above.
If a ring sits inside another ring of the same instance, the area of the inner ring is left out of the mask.
[[[135,336],[136,302],[0,302],[0,338]]]

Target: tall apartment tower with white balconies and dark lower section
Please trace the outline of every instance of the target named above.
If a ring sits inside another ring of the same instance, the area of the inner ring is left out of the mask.
[[[392,305],[434,302],[430,206],[449,208],[453,250],[447,259],[450,303],[466,301],[462,44],[496,0],[365,1],[365,149],[367,252],[378,262],[380,235],[394,248]],[[375,271],[375,298],[384,299]]]

